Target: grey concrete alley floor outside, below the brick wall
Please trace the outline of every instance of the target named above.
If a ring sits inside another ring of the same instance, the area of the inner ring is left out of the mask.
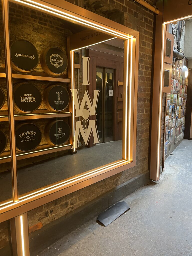
[[[182,141],[173,154],[159,182],[122,200],[130,211],[108,227],[96,217],[38,256],[191,256],[192,141]]]

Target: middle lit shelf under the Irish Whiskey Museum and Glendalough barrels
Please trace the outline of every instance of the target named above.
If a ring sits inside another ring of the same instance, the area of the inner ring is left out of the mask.
[[[4,114],[4,115],[2,115],[2,114]],[[0,122],[8,122],[9,121],[9,116],[7,114],[8,114],[7,112],[0,113]],[[63,118],[63,117],[71,117],[71,115],[72,115],[72,113],[70,113],[70,112],[48,113],[45,110],[45,111],[36,111],[36,113],[33,113],[33,114],[15,114],[15,121],[48,119],[48,118]]]

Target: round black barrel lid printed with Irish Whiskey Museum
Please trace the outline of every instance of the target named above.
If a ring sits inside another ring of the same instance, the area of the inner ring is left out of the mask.
[[[14,90],[14,101],[17,108],[23,112],[33,112],[41,105],[41,93],[31,83],[20,83]]]

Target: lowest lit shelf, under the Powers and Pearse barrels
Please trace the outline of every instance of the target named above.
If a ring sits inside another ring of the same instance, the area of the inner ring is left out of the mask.
[[[43,146],[37,147],[35,151],[32,151],[32,152],[17,153],[17,160],[27,159],[35,156],[55,153],[55,152],[64,151],[64,150],[70,150],[71,148],[72,148],[72,145],[55,146],[55,147],[51,147],[49,145],[43,145]],[[11,161],[10,151],[2,153],[0,155],[0,164],[8,163],[10,161]]]

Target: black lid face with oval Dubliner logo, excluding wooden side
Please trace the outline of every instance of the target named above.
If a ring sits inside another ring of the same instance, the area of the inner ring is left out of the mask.
[[[55,74],[62,74],[68,66],[68,59],[64,51],[52,47],[47,51],[45,62],[49,70]]]

